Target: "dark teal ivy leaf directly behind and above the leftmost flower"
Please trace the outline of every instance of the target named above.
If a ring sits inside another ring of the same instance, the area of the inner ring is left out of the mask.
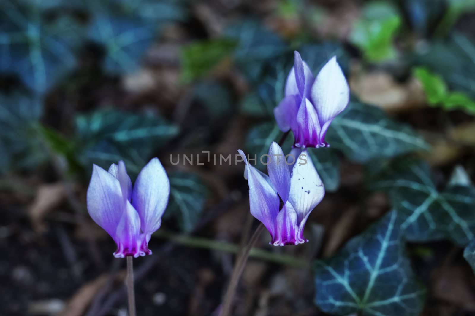
[[[179,127],[155,115],[103,110],[76,117],[79,159],[108,168],[124,160],[138,174],[155,149],[179,133]]]

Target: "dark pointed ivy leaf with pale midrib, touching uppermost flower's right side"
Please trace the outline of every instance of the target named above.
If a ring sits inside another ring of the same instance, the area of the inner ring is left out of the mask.
[[[377,107],[354,100],[333,120],[325,139],[356,162],[429,148],[408,125],[392,120]]]

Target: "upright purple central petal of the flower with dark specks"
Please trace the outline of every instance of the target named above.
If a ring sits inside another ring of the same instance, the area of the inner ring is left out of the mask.
[[[267,172],[270,181],[276,188],[282,201],[287,201],[290,190],[290,171],[285,161],[284,151],[273,141],[269,147],[270,163],[267,165]]]

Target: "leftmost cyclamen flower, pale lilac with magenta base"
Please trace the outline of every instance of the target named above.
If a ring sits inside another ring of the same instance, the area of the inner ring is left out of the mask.
[[[108,172],[94,165],[87,211],[117,244],[115,258],[137,258],[152,254],[148,242],[160,228],[169,195],[170,182],[158,158],[142,168],[133,187],[123,161]]]

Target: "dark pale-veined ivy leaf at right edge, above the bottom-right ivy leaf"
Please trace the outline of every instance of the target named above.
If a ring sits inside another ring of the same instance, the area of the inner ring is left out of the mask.
[[[452,181],[438,191],[422,161],[396,161],[370,184],[385,190],[391,206],[404,218],[401,229],[414,242],[448,239],[465,246],[475,237],[475,188]]]

